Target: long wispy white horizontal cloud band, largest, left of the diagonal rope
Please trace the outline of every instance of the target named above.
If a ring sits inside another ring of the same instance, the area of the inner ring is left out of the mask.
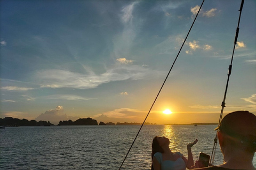
[[[161,77],[161,75],[165,75],[165,72],[150,70],[148,67],[139,65],[117,64],[99,75],[93,71],[87,74],[81,74],[66,70],[41,70],[35,73],[34,80],[38,84],[41,84],[42,88],[91,89],[98,87],[102,83],[112,81],[151,79],[152,75]]]

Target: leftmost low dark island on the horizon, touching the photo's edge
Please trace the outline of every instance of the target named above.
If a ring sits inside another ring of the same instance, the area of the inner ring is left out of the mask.
[[[0,118],[0,126],[54,126],[49,121],[28,121],[25,118],[20,120],[19,118],[5,117]]]

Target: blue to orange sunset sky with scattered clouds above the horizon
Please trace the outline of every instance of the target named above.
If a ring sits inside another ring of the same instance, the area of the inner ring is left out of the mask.
[[[142,123],[201,3],[1,0],[0,117]],[[146,122],[218,123],[240,5],[204,2]],[[256,114],[255,21],[245,0],[224,115]]]

